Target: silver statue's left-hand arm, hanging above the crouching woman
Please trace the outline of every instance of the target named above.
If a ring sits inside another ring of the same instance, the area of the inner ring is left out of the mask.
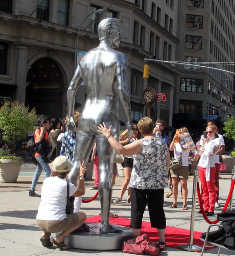
[[[76,92],[78,91],[78,87],[80,86],[81,83],[82,83],[81,68],[78,64],[74,77],[67,90],[68,120],[66,123],[66,128],[70,136],[72,136],[75,132],[74,103],[75,103]]]

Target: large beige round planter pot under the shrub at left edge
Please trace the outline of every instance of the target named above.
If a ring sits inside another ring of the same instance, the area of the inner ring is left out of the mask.
[[[16,182],[21,165],[14,160],[0,159],[0,182]]]

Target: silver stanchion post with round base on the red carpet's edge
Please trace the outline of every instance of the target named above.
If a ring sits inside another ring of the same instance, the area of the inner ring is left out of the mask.
[[[198,170],[194,171],[193,188],[192,188],[192,211],[191,211],[191,222],[190,222],[190,236],[189,244],[180,244],[179,248],[188,252],[198,252],[202,250],[202,247],[193,244],[193,233],[195,224],[195,211],[196,211],[196,191],[198,181]]]

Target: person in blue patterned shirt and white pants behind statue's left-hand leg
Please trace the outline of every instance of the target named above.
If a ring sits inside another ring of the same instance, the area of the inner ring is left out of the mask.
[[[78,129],[78,122],[80,119],[80,113],[74,111],[74,123],[75,123],[75,132],[73,136],[70,136],[68,132],[64,133],[62,146],[60,150],[60,156],[66,156],[67,160],[71,163],[74,162],[75,146],[76,146],[76,131]],[[77,196],[74,199],[74,212],[79,212],[82,204],[82,196]]]

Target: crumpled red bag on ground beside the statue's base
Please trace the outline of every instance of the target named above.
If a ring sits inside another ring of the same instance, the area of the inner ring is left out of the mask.
[[[157,242],[150,242],[149,236],[143,234],[137,237],[127,237],[122,242],[122,252],[133,253],[133,254],[150,254],[157,256],[160,253],[159,244]]]

